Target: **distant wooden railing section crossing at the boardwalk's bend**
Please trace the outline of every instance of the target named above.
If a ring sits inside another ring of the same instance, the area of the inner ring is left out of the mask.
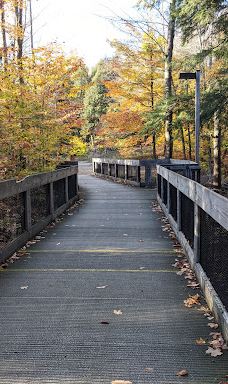
[[[184,176],[199,180],[199,166],[189,160],[155,159],[155,160],[121,160],[93,158],[93,172],[113,180],[124,180],[126,184],[138,187],[156,187],[156,166],[164,165],[178,171]]]

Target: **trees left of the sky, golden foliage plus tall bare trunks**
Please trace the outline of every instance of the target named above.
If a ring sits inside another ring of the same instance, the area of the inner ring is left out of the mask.
[[[85,152],[80,130],[87,69],[55,46],[25,49],[27,5],[0,1],[2,177],[50,169]]]

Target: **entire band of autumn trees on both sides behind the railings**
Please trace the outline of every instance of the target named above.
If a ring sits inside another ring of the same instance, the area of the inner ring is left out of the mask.
[[[56,46],[34,49],[32,0],[0,0],[3,177],[48,169],[86,146],[194,159],[195,84],[180,82],[179,72],[200,69],[202,166],[220,187],[228,161],[227,3],[138,0],[138,17],[114,20],[129,39],[111,42],[114,57],[89,74]]]

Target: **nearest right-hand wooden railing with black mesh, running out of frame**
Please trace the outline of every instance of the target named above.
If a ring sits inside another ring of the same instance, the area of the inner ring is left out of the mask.
[[[158,202],[228,340],[228,199],[157,166]]]

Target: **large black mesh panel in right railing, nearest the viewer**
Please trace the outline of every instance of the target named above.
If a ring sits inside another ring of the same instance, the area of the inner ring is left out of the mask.
[[[228,309],[228,231],[200,209],[200,263]]]

